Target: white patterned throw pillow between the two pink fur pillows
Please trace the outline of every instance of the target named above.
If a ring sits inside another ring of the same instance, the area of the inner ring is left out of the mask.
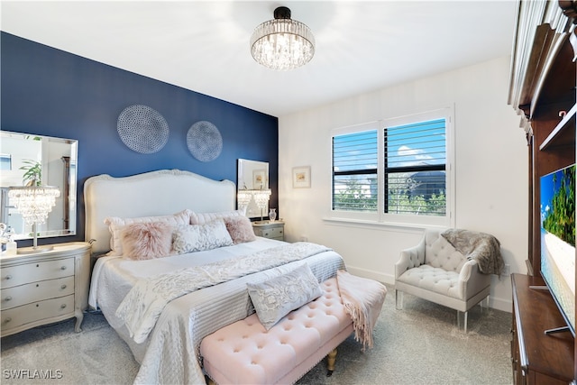
[[[179,225],[172,235],[172,247],[179,254],[202,252],[233,244],[222,218],[205,225]]]

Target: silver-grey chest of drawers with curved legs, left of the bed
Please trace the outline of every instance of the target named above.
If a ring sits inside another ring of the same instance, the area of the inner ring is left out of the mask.
[[[1,335],[76,317],[88,307],[90,243],[52,245],[48,252],[0,255]]]

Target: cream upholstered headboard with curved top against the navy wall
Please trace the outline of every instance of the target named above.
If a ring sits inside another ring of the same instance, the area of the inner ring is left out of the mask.
[[[175,214],[184,209],[197,213],[234,210],[236,187],[230,180],[216,181],[182,170],[158,170],[114,178],[97,175],[84,184],[87,241],[92,252],[110,250],[107,216],[134,218]]]

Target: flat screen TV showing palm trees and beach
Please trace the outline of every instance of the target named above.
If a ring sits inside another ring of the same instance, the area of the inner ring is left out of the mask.
[[[547,174],[541,184],[541,275],[575,336],[575,165]],[[554,326],[554,325],[552,325]]]

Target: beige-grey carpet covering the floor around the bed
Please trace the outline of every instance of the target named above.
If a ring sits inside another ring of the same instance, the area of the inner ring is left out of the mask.
[[[333,376],[326,377],[320,362],[299,385],[512,383],[510,313],[474,307],[465,335],[455,311],[408,295],[404,309],[396,310],[388,289],[375,347],[363,353],[349,337],[339,347]],[[104,316],[87,314],[83,332],[73,329],[69,320],[2,338],[2,384],[133,382],[138,363]]]

